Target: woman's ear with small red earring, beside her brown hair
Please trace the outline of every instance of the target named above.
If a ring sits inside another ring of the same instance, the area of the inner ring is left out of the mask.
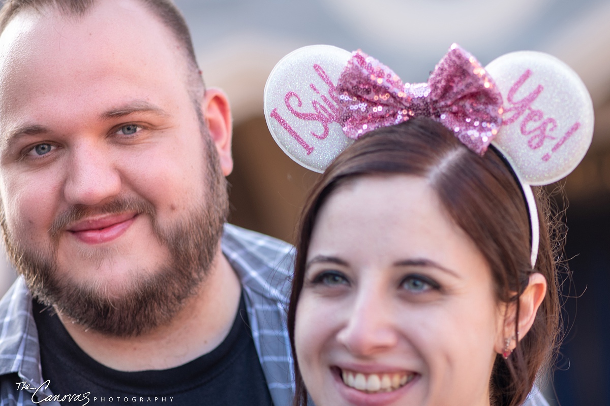
[[[534,324],[536,313],[546,294],[547,279],[542,273],[536,272],[529,275],[528,285],[519,298],[519,326],[517,326],[519,340],[525,337],[525,334],[527,334],[532,324]],[[511,303],[506,309],[503,337],[497,337],[495,345],[495,351],[498,352],[498,354],[502,354],[502,352],[507,349],[507,340],[510,340],[508,345],[510,351],[517,346],[517,341],[515,340],[515,316],[517,313],[517,306],[515,303]]]

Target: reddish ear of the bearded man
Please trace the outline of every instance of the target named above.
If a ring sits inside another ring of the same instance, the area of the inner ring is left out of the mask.
[[[216,145],[223,175],[227,176],[233,170],[233,158],[231,156],[233,124],[229,99],[220,89],[206,89],[206,94],[201,103],[201,112],[210,132],[210,138]]]

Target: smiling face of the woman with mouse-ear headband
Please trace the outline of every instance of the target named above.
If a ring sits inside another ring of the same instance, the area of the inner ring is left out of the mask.
[[[489,406],[503,309],[423,178],[358,178],[326,201],[307,253],[295,327],[307,390],[317,406]]]

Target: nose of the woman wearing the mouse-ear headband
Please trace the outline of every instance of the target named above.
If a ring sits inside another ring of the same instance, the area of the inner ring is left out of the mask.
[[[337,340],[351,354],[362,357],[397,345],[398,332],[389,308],[391,302],[382,293],[359,292],[347,313],[345,326],[337,334]]]

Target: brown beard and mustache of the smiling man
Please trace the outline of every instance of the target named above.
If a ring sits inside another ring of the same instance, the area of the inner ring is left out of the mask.
[[[212,266],[228,215],[226,180],[218,153],[207,131],[202,136],[207,140],[206,197],[201,205],[170,226],[159,226],[154,207],[142,198],[118,197],[93,210],[75,205],[59,215],[49,230],[54,250],[48,255],[29,250],[15,240],[7,229],[2,210],[0,222],[7,252],[32,295],[85,328],[109,336],[140,335],[171,320],[184,306],[185,299],[195,295]],[[102,286],[78,284],[60,276],[57,246],[60,233],[68,223],[92,214],[127,211],[148,215],[157,240],[168,248],[167,263],[146,276],[137,269],[129,270],[139,279],[134,277],[122,294],[113,298],[104,294]]]

